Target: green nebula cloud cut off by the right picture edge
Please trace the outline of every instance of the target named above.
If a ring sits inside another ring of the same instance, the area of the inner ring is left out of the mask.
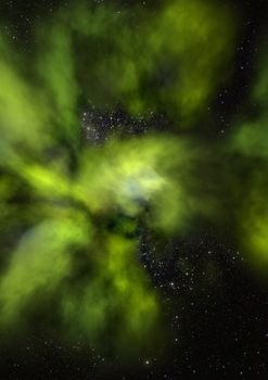
[[[261,54],[257,78],[252,93],[255,115],[250,121],[239,122],[231,137],[231,151],[242,160],[239,169],[240,205],[238,225],[241,246],[251,262],[265,274],[268,265],[268,102],[267,102],[267,53]],[[243,177],[243,179],[242,179]],[[241,185],[243,186],[241,187]]]

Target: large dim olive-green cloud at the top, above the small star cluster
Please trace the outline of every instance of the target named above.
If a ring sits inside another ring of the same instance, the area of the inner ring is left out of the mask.
[[[142,13],[77,8],[72,25],[85,36],[77,48],[84,56],[97,43],[80,63],[90,101],[119,104],[135,115],[163,112],[179,128],[204,113],[233,52],[232,15],[212,2],[168,1]]]

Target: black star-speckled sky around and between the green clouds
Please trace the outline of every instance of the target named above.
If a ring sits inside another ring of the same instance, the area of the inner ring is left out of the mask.
[[[98,3],[98,1],[95,1]],[[104,1],[99,1],[104,2]],[[237,41],[234,69],[209,112],[215,128],[203,136],[208,141],[226,138],[232,116],[247,102],[258,41],[267,22],[266,1],[222,1],[242,15]],[[118,9],[128,1],[117,1]],[[153,7],[150,1],[137,1]],[[24,52],[31,51],[35,23],[68,7],[68,1],[1,1],[0,17],[7,22],[1,34]],[[247,104],[254,109],[254,104]],[[162,116],[154,116],[159,131],[168,130]],[[145,119],[124,112],[81,112],[84,138],[97,144],[109,139],[113,128],[126,135],[144,135]],[[98,128],[95,128],[98,126]],[[150,126],[151,127],[151,126]],[[231,227],[214,229],[195,226],[190,237],[155,242],[144,229],[140,261],[161,294],[167,327],[163,351],[148,352],[135,365],[120,356],[110,357],[94,346],[85,347],[79,337],[64,346],[53,329],[36,326],[10,350],[0,347],[2,379],[266,379],[268,376],[268,292],[245,265],[246,257],[232,240]],[[163,257],[152,252],[162,244]],[[176,263],[181,265],[176,265]],[[131,344],[131,342],[129,343]]]

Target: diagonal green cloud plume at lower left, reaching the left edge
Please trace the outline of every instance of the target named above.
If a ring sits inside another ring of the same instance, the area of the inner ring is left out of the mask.
[[[87,227],[79,213],[64,211],[58,212],[53,219],[52,215],[51,219],[43,219],[22,237],[1,279],[3,326],[25,322],[24,313],[31,300],[35,299],[36,307],[38,303],[43,305],[50,293],[69,276],[72,253],[76,245],[86,245],[90,239]]]

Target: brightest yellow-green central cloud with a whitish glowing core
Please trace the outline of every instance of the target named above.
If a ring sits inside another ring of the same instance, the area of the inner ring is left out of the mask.
[[[148,203],[151,227],[179,230],[202,210],[191,190],[199,181],[192,172],[201,152],[187,139],[163,135],[112,141],[101,151],[87,149],[80,156],[74,197],[95,212],[113,212],[116,205],[129,216]]]

